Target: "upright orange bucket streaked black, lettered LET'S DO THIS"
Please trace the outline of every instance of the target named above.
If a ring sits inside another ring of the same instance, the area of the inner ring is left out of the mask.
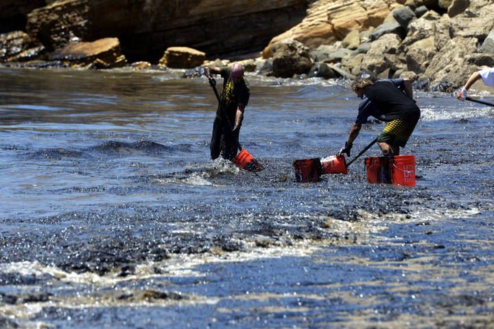
[[[415,186],[415,156],[366,157],[369,183]]]

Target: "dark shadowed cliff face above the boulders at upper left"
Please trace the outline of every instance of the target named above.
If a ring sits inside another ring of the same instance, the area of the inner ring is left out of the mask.
[[[300,23],[309,0],[62,0],[28,15],[27,32],[56,49],[74,38],[117,37],[130,60],[156,63],[167,47],[207,56],[259,52]]]

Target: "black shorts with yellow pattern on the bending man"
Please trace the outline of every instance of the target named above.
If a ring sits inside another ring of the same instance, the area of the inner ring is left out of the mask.
[[[404,148],[414,131],[416,123],[419,121],[419,117],[420,112],[410,115],[405,119],[396,119],[388,122],[381,135],[377,138],[377,142]]]

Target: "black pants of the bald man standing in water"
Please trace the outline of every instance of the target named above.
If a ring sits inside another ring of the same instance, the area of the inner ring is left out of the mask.
[[[216,117],[213,123],[213,135],[211,136],[211,159],[223,157],[223,159],[232,160],[237,155],[237,140],[240,129],[235,133],[231,132],[231,128],[226,120],[221,117]]]

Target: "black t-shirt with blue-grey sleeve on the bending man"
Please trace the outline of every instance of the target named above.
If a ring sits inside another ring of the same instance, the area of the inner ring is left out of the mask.
[[[369,115],[377,120],[390,122],[395,119],[404,119],[415,112],[420,113],[415,102],[397,87],[399,86],[396,83],[384,80],[366,87],[364,95],[367,100],[362,100],[355,123],[365,123]]]

